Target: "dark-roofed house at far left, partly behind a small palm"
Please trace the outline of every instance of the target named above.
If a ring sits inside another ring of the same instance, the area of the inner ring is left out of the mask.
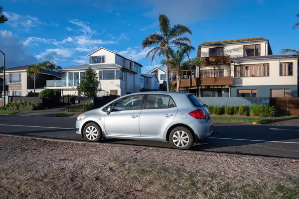
[[[34,80],[27,75],[26,69],[28,67],[29,65],[24,65],[5,70],[6,96],[25,97],[28,94],[33,95]],[[3,74],[0,74],[0,76],[3,76]],[[35,92],[39,93],[44,90],[46,81],[59,79],[61,79],[60,72],[41,69],[35,80]]]

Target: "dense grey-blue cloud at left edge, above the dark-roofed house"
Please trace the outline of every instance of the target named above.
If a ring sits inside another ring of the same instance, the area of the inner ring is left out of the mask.
[[[38,60],[29,53],[18,35],[7,30],[0,30],[0,44],[1,51],[5,53],[7,68],[38,63]],[[2,56],[0,56],[0,63],[3,63]]]

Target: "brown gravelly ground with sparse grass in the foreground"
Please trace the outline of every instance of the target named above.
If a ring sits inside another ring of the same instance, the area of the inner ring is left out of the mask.
[[[0,198],[299,199],[299,161],[0,136]]]

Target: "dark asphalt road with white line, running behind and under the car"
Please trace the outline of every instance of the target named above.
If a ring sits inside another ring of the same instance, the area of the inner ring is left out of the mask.
[[[76,118],[0,115],[0,134],[84,141]],[[299,159],[299,126],[215,123],[218,135],[191,150]],[[104,143],[170,148],[168,142],[108,139]]]

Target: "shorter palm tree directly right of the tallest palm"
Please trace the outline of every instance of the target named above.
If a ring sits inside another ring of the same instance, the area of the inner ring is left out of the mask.
[[[182,70],[185,70],[190,66],[197,65],[201,67],[205,65],[203,60],[189,57],[189,54],[193,50],[195,50],[193,46],[185,46],[176,52],[170,51],[170,59],[161,61],[162,66],[168,65],[170,70],[176,75],[176,92],[179,92],[180,90],[180,80],[183,77]]]

